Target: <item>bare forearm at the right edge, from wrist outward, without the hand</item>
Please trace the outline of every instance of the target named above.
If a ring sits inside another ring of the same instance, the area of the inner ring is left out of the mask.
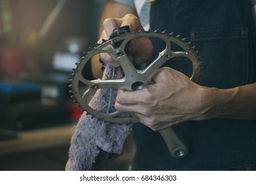
[[[232,89],[209,88],[206,91],[203,119],[256,120],[256,83]]]

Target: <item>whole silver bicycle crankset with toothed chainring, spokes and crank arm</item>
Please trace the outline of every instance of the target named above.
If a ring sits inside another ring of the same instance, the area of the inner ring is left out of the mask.
[[[128,43],[137,37],[159,39],[165,45],[165,48],[159,51],[159,55],[156,58],[153,58],[153,60],[142,69],[138,69],[134,66],[133,62],[129,58],[129,53],[126,51]],[[113,47],[114,45],[115,47]],[[172,45],[178,45],[178,49],[175,47],[176,49],[173,50]],[[82,71],[86,67],[86,64],[90,62],[91,58],[95,55],[99,55],[99,53],[115,55],[124,72],[124,78],[119,80],[86,79],[83,76]],[[187,43],[185,39],[181,39],[180,35],[175,36],[173,33],[166,34],[166,32],[159,32],[158,30],[124,32],[122,35],[117,35],[116,37],[112,37],[111,39],[105,40],[103,43],[96,45],[91,49],[91,51],[81,58],[80,62],[76,63],[77,67],[73,69],[74,73],[70,80],[72,81],[70,84],[70,87],[72,87],[71,92],[73,93],[72,97],[74,97],[75,101],[83,110],[100,120],[117,124],[133,124],[140,122],[135,116],[122,118],[119,116],[121,112],[118,111],[103,113],[91,108],[89,105],[91,96],[95,94],[95,91],[103,88],[124,89],[126,91],[141,89],[145,86],[145,81],[151,74],[157,71],[166,62],[172,62],[172,58],[176,57],[184,57],[190,61],[192,74],[189,77],[192,81],[197,81],[199,79],[200,70],[197,51],[195,51],[194,47],[191,47],[190,42]],[[178,139],[171,127],[160,131],[160,133],[165,139],[166,145],[168,146],[172,156],[179,158],[188,153],[188,149]]]

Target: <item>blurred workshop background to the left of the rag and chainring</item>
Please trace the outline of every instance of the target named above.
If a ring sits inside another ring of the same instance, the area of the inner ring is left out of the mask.
[[[82,113],[68,79],[97,41],[104,3],[0,0],[0,170],[64,170]],[[130,159],[118,158],[118,170]]]

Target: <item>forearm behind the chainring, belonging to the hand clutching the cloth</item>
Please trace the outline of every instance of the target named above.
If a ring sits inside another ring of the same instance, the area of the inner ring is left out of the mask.
[[[136,14],[135,9],[132,9],[128,6],[122,5],[120,3],[116,3],[115,1],[107,1],[103,12],[101,14],[101,21],[99,25],[99,37],[101,32],[103,31],[103,21],[107,18],[121,18],[125,14],[132,13]],[[101,63],[99,62],[99,57],[95,56],[91,58],[91,70],[93,77],[95,79],[101,78],[102,71],[101,71]]]

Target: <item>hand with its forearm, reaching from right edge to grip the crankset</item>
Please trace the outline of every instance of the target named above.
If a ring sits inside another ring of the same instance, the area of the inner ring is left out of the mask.
[[[172,68],[160,68],[143,89],[119,90],[115,108],[135,114],[156,131],[190,120],[256,120],[255,89],[256,83],[232,89],[204,87]]]

